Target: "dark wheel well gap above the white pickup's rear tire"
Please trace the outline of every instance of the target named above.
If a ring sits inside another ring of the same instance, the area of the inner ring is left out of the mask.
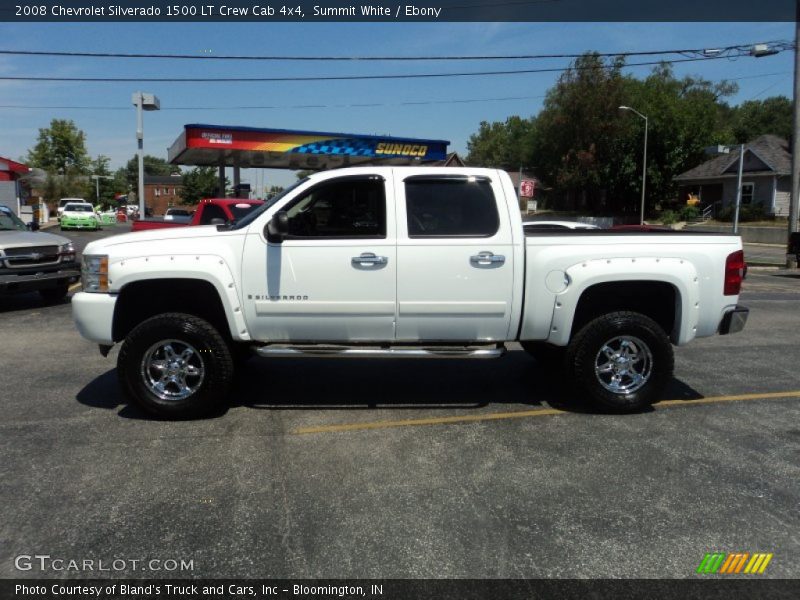
[[[592,319],[629,310],[658,323],[674,339],[676,315],[680,314],[678,293],[663,281],[613,281],[593,285],[581,294],[572,321],[570,339]]]

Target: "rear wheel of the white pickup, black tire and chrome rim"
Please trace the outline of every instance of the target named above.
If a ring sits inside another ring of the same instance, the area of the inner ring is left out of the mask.
[[[597,406],[628,413],[658,398],[672,379],[674,357],[658,323],[626,311],[585,325],[567,347],[565,365],[573,385]]]

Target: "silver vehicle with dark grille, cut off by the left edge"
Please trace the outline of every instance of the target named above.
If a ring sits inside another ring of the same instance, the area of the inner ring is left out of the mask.
[[[75,248],[65,237],[35,229],[0,204],[0,296],[37,291],[57,302],[80,277]]]

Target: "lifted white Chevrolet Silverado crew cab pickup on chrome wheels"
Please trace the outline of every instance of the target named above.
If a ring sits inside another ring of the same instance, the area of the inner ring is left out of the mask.
[[[493,358],[519,341],[611,411],[672,377],[672,345],[741,330],[739,237],[525,234],[503,171],[359,167],[298,181],[236,223],[92,242],[81,335],[147,411],[219,407],[239,360]],[[499,382],[498,382],[499,383]]]

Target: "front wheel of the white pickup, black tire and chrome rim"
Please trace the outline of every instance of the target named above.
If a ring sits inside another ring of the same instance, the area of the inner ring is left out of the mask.
[[[198,417],[222,408],[233,372],[231,351],[220,333],[207,321],[183,313],[157,315],[138,325],[117,358],[117,376],[128,398],[168,418]]]

